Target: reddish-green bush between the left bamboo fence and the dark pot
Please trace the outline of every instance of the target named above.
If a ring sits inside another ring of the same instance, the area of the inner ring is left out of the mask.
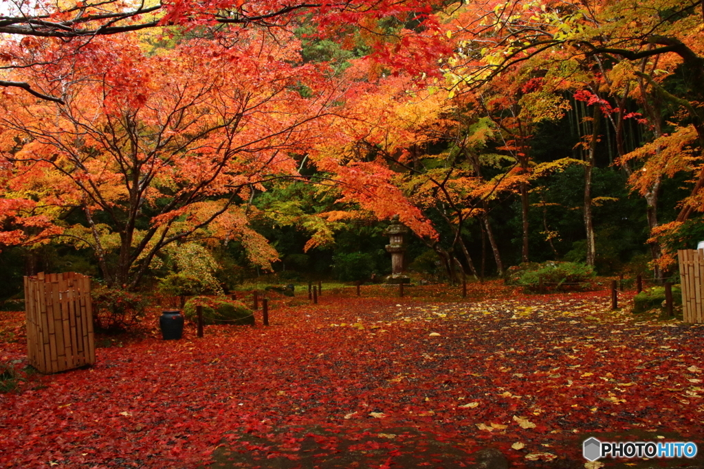
[[[146,298],[120,288],[95,288],[93,300],[93,323],[97,330],[106,333],[125,332],[144,317],[148,304]]]

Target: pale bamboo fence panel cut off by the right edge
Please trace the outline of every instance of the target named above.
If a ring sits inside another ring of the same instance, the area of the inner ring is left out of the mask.
[[[704,323],[704,249],[677,251],[682,286],[682,312],[686,323]]]

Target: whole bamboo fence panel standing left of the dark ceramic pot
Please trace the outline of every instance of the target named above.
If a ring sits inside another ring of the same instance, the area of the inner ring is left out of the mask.
[[[27,356],[42,373],[95,363],[90,278],[74,272],[25,277]]]

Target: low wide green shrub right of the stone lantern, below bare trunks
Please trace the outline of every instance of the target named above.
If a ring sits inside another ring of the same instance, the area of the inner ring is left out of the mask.
[[[518,280],[518,285],[537,291],[542,278],[546,291],[587,290],[592,286],[590,281],[594,275],[594,269],[585,264],[544,262],[537,264],[535,269],[525,270]]]

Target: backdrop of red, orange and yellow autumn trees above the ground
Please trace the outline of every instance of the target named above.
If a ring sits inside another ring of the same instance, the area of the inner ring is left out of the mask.
[[[704,239],[701,1],[5,1],[0,299],[521,262],[670,275]]]

